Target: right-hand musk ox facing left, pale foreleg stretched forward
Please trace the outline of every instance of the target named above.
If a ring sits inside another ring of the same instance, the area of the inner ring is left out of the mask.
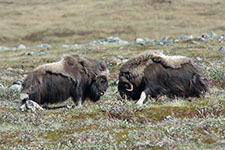
[[[118,91],[142,105],[147,97],[204,96],[208,80],[191,58],[146,51],[120,67]]]

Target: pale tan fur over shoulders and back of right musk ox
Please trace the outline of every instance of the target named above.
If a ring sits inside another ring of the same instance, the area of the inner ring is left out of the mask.
[[[193,63],[193,60],[185,56],[166,56],[161,52],[145,51],[129,59],[121,66],[120,71],[130,72],[135,80],[140,83],[145,68],[154,62],[161,63],[165,67],[177,69],[180,68],[182,64]]]

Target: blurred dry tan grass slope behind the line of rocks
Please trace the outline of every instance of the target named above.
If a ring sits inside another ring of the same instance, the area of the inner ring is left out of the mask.
[[[3,0],[0,45],[224,33],[223,0]]]

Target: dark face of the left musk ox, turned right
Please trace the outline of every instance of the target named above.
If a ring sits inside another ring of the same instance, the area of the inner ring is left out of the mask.
[[[108,80],[107,77],[104,75],[100,75],[96,78],[95,81],[93,81],[91,87],[90,87],[90,92],[89,93],[89,98],[96,102],[100,99],[101,96],[103,96],[108,88]]]

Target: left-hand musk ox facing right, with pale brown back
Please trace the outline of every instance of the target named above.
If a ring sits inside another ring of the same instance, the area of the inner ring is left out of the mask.
[[[75,54],[41,65],[22,84],[20,109],[24,110],[28,100],[39,105],[62,102],[69,97],[78,106],[86,98],[95,102],[108,88],[107,71],[103,61]]]

